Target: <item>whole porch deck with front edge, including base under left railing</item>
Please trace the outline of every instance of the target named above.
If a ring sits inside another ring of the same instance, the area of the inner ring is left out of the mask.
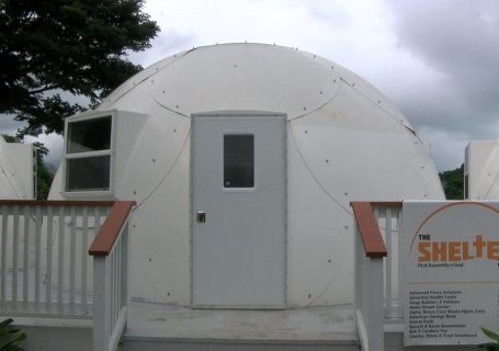
[[[47,350],[54,342],[92,349],[91,320],[16,317],[15,322],[29,335],[26,350]],[[229,310],[134,301],[118,349],[343,351],[358,350],[359,339],[352,305]]]

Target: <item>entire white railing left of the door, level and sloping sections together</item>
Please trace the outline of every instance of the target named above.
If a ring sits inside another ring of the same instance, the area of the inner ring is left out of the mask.
[[[133,202],[0,200],[0,310],[92,318],[93,350],[126,327]]]

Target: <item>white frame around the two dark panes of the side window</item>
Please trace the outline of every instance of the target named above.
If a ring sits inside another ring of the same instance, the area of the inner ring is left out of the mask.
[[[111,140],[110,148],[105,150],[97,151],[86,151],[86,152],[68,152],[68,133],[69,124],[98,120],[103,117],[111,117]],[[92,111],[83,114],[75,115],[65,120],[65,131],[64,131],[64,159],[63,159],[63,189],[61,194],[65,197],[84,197],[84,196],[102,196],[110,197],[114,194],[114,163],[115,163],[115,134],[116,134],[116,110],[112,111]],[[99,156],[110,156],[110,181],[107,190],[68,190],[68,160],[71,159],[81,159],[81,158],[91,158]]]

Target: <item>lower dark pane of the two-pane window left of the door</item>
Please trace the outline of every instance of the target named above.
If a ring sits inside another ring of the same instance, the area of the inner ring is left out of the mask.
[[[66,160],[66,191],[109,190],[111,156]]]

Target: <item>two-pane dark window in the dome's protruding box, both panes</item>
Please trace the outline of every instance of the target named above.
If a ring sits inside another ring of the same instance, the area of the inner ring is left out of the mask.
[[[66,192],[111,191],[112,116],[75,118],[66,125]]]

